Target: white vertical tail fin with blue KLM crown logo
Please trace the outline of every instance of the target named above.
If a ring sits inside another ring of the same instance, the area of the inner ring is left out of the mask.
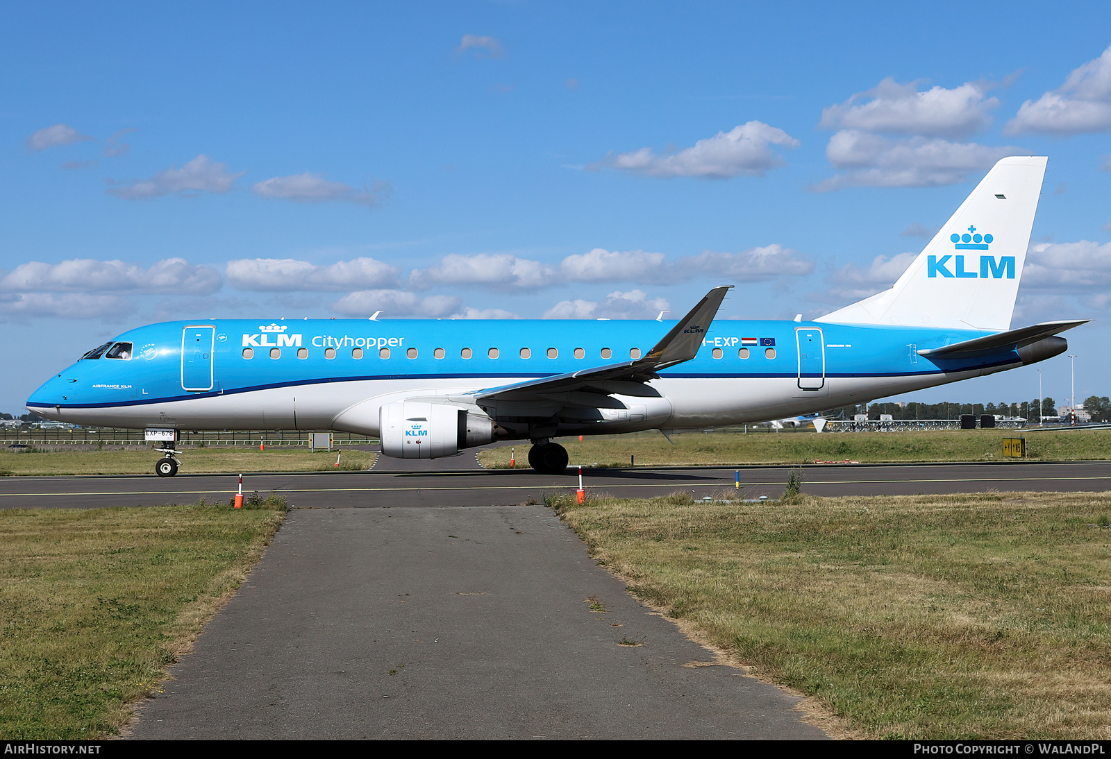
[[[1001,160],[891,290],[814,321],[1009,328],[1047,161]]]

